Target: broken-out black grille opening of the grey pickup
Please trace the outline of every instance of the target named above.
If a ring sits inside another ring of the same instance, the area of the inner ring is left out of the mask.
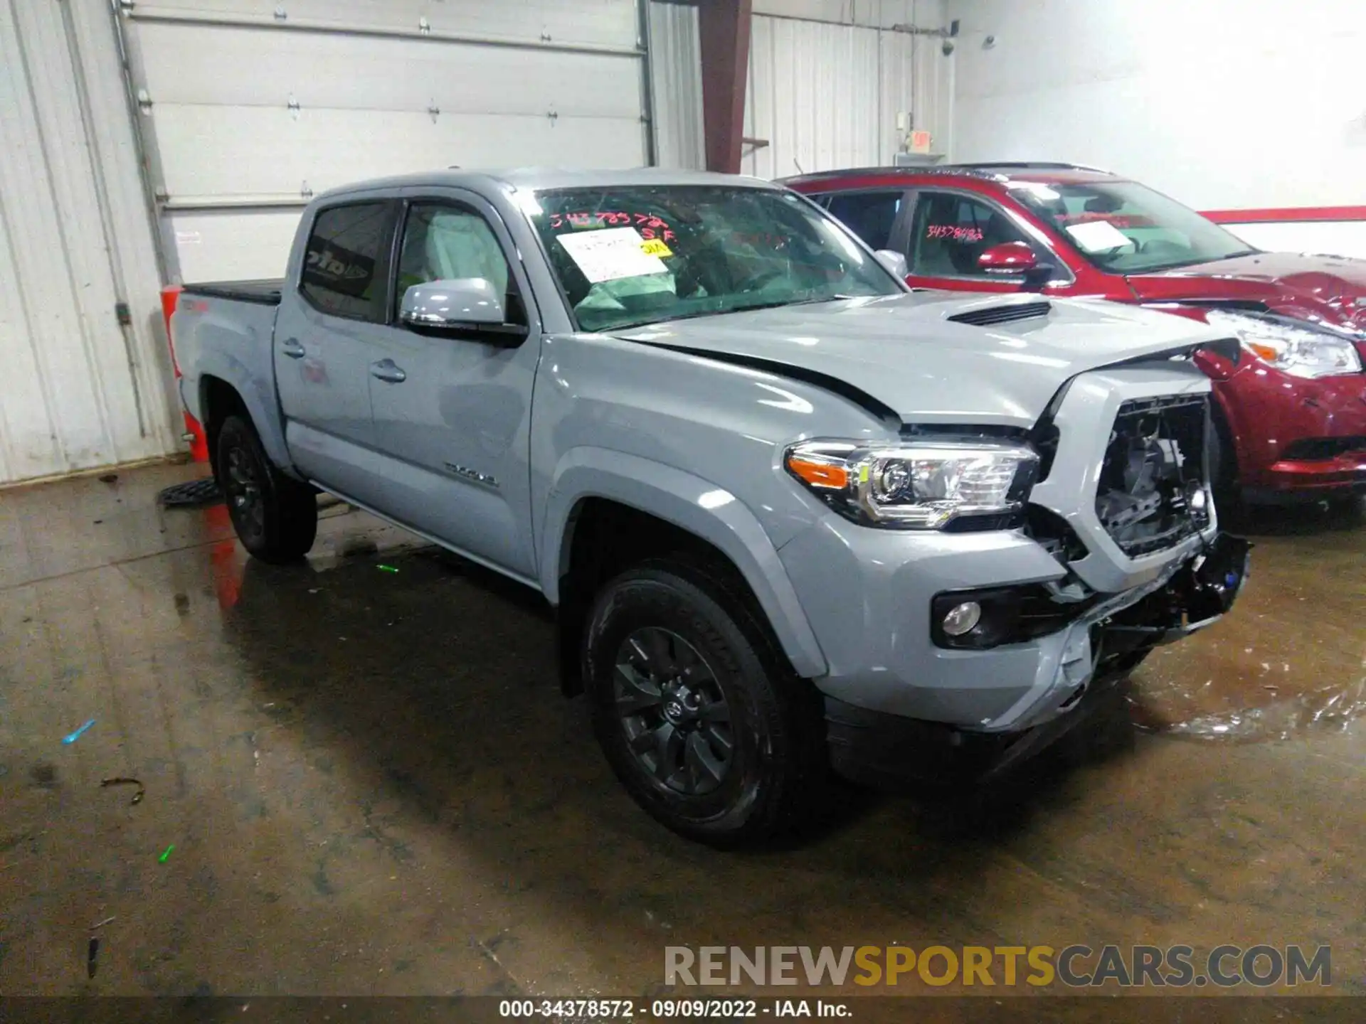
[[[1171,547],[1209,524],[1208,431],[1205,395],[1120,406],[1101,463],[1096,515],[1126,554]]]

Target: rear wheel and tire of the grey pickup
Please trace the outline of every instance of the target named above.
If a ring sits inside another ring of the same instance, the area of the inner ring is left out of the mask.
[[[280,472],[243,416],[228,416],[219,430],[219,486],[238,539],[268,563],[298,561],[318,532],[313,489]]]

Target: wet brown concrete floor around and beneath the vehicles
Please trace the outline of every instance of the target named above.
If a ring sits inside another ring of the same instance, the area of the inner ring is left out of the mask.
[[[1086,756],[724,855],[617,786],[537,598],[344,507],[249,563],[156,507],[195,472],[0,492],[3,994],[642,995],[665,945],[895,942],[1330,943],[1366,994],[1359,512],[1251,523],[1240,606]]]

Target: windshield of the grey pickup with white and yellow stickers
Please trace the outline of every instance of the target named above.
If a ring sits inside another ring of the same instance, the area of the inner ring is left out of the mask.
[[[583,330],[903,291],[791,193],[635,186],[535,201],[531,223]]]

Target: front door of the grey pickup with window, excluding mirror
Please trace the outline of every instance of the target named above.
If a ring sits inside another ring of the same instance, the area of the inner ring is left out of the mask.
[[[459,190],[403,201],[391,326],[370,345],[370,408],[385,512],[477,560],[534,579],[527,478],[540,317],[501,218]],[[414,284],[479,277],[504,296],[519,344],[475,329],[436,336],[399,321]]]

